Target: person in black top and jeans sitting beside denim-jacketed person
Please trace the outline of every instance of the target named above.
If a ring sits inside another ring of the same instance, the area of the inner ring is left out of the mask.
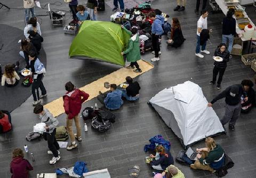
[[[140,98],[139,90],[140,90],[140,85],[138,82],[132,82],[132,77],[127,76],[125,78],[127,86],[125,90],[122,90],[123,94],[122,97],[125,98],[128,101],[136,101]]]

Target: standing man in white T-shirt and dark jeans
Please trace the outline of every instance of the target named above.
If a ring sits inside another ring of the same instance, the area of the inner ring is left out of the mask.
[[[196,38],[197,38],[197,42],[196,42],[196,56],[198,56],[199,58],[204,58],[204,56],[200,53],[205,53],[205,54],[210,54],[209,51],[207,51],[205,49],[206,47],[206,41],[204,42],[204,44],[202,45],[202,50],[200,51],[200,34],[202,32],[203,29],[207,29],[207,17],[208,17],[208,12],[207,11],[203,11],[201,17],[199,18],[199,20],[197,21],[197,31],[196,31]],[[211,31],[211,30],[210,30]]]

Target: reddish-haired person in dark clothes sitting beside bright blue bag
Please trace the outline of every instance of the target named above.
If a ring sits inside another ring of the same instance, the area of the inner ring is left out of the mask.
[[[155,160],[150,161],[150,165],[152,166],[153,169],[162,171],[174,163],[170,151],[165,150],[165,148],[162,145],[158,145],[156,147],[156,152],[159,153],[159,159],[156,160],[157,156],[150,155],[151,158],[155,158]]]

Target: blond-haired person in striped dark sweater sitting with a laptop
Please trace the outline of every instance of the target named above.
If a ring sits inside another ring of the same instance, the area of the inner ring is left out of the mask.
[[[224,150],[219,144],[216,144],[212,137],[205,139],[206,148],[196,149],[198,160],[190,167],[193,169],[203,169],[214,173],[215,170],[220,169],[225,163]]]

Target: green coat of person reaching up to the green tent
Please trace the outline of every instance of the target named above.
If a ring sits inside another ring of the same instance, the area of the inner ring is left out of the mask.
[[[132,35],[131,31],[127,30],[125,27],[123,28],[125,32],[129,35]],[[129,44],[127,49],[124,51],[126,54],[126,60],[128,62],[136,62],[140,60],[140,39],[139,35],[136,34],[129,39]]]

